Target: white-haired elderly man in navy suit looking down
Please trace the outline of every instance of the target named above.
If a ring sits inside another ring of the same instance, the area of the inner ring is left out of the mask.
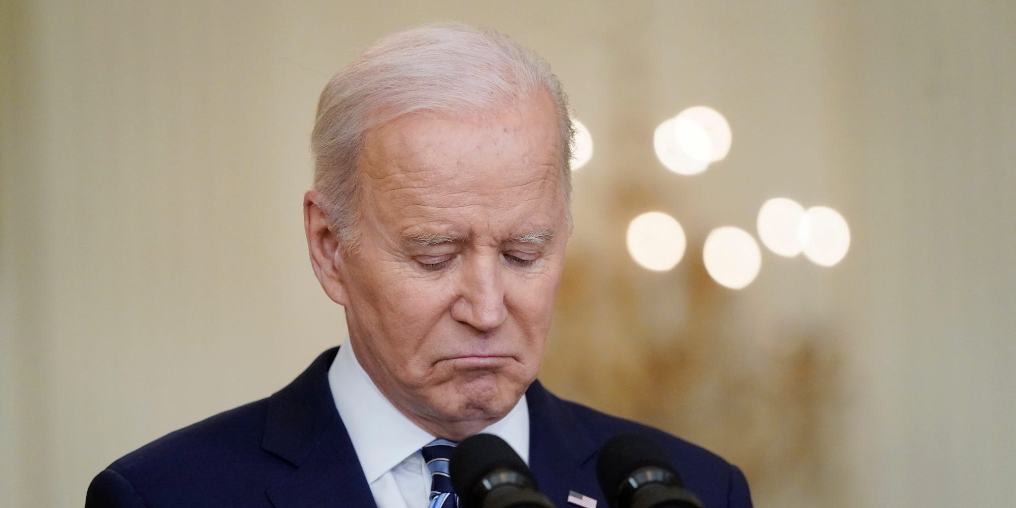
[[[706,507],[751,506],[719,457],[535,381],[571,234],[571,133],[558,79],[503,35],[430,25],[368,49],[321,94],[304,198],[348,340],[271,397],[117,460],[86,506],[454,506],[435,457],[480,432],[558,506],[606,505],[596,451],[632,431]]]

